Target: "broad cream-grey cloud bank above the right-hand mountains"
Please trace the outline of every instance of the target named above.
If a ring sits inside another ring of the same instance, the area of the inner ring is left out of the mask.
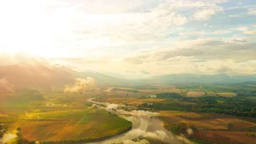
[[[253,29],[253,26],[239,29],[242,33],[247,33]],[[238,28],[233,28],[233,31],[238,31]],[[143,62],[145,67],[153,70],[153,73],[155,67],[157,72],[166,73],[216,73],[223,72],[224,69],[220,69],[219,65],[224,65],[229,66],[230,70],[226,71],[228,73],[252,74],[255,68],[248,63],[255,63],[254,45],[256,45],[254,36],[236,35],[230,38],[207,36],[180,40],[173,46],[159,45],[155,48],[139,50],[126,57]],[[199,63],[204,66],[196,67],[200,65]],[[245,69],[238,63],[247,64],[248,67]],[[139,64],[132,64],[139,68]]]

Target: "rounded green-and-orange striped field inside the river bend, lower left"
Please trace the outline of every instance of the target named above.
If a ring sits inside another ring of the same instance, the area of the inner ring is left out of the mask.
[[[29,141],[96,139],[116,135],[131,127],[131,122],[95,109],[27,113],[22,118],[11,124],[10,129],[19,126]]]

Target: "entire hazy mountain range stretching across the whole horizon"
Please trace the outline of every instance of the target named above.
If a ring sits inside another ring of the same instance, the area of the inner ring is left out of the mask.
[[[129,81],[99,72],[77,72],[62,65],[47,63],[18,63],[0,66],[0,80],[7,81],[14,88],[51,88],[63,87],[73,83],[76,78],[93,77],[99,86],[120,84],[175,84],[175,83],[238,83],[256,82],[256,75],[229,76],[224,73],[203,74],[168,74]],[[3,84],[0,84],[0,86]],[[1,88],[0,88],[1,89]]]

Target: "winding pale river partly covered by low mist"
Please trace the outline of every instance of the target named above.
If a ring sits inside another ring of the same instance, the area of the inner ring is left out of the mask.
[[[88,99],[88,101],[97,105],[104,105],[106,106],[106,110],[111,111],[119,115],[119,117],[122,117],[132,122],[132,129],[127,133],[113,136],[101,142],[95,142],[90,144],[147,144],[145,139],[138,140],[137,142],[132,141],[134,139],[138,139],[138,137],[151,137],[163,141],[167,144],[193,144],[184,136],[173,135],[170,131],[167,131],[164,128],[163,121],[154,117],[157,116],[158,113],[143,110],[125,111],[123,109],[116,109],[115,111],[112,111],[112,109],[107,108],[111,105],[113,107],[116,107],[118,106],[117,104],[96,102],[92,99]]]

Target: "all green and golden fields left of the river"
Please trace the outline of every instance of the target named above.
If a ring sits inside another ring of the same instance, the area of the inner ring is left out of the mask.
[[[28,141],[99,139],[117,135],[132,126],[117,115],[90,108],[91,104],[84,99],[86,95],[48,93],[44,99],[32,100],[23,95],[26,93],[22,97],[21,94],[1,97],[0,123],[9,131],[20,127]]]

